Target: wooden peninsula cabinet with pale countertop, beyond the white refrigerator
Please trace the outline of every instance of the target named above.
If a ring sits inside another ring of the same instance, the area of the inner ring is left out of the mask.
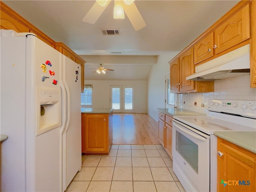
[[[81,108],[82,153],[108,154],[113,140],[113,109]]]

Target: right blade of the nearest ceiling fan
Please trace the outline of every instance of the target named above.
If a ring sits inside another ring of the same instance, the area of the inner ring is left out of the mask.
[[[146,23],[134,2],[130,5],[126,5],[125,3],[123,3],[122,6],[124,8],[124,12],[126,13],[127,17],[132,23],[133,28],[136,31],[146,27]]]

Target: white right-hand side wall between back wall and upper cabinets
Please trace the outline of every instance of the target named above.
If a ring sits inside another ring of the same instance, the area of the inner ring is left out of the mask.
[[[153,65],[148,77],[148,114],[158,121],[157,108],[165,107],[165,74],[170,72],[168,63],[179,52],[158,56],[157,64]]]

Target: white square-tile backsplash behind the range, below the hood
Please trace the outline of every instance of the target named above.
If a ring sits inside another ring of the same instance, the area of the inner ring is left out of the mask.
[[[250,88],[250,75],[215,80],[214,92],[178,94],[178,106],[207,113],[209,99],[256,100],[256,88]]]

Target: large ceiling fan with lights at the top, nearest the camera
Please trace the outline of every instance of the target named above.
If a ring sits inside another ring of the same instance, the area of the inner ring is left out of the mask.
[[[96,0],[94,5],[84,16],[83,22],[94,24],[106,9],[110,1],[111,0]],[[136,31],[146,26],[144,19],[134,4],[134,0],[114,0],[114,2],[114,18],[123,19],[125,12]]]

